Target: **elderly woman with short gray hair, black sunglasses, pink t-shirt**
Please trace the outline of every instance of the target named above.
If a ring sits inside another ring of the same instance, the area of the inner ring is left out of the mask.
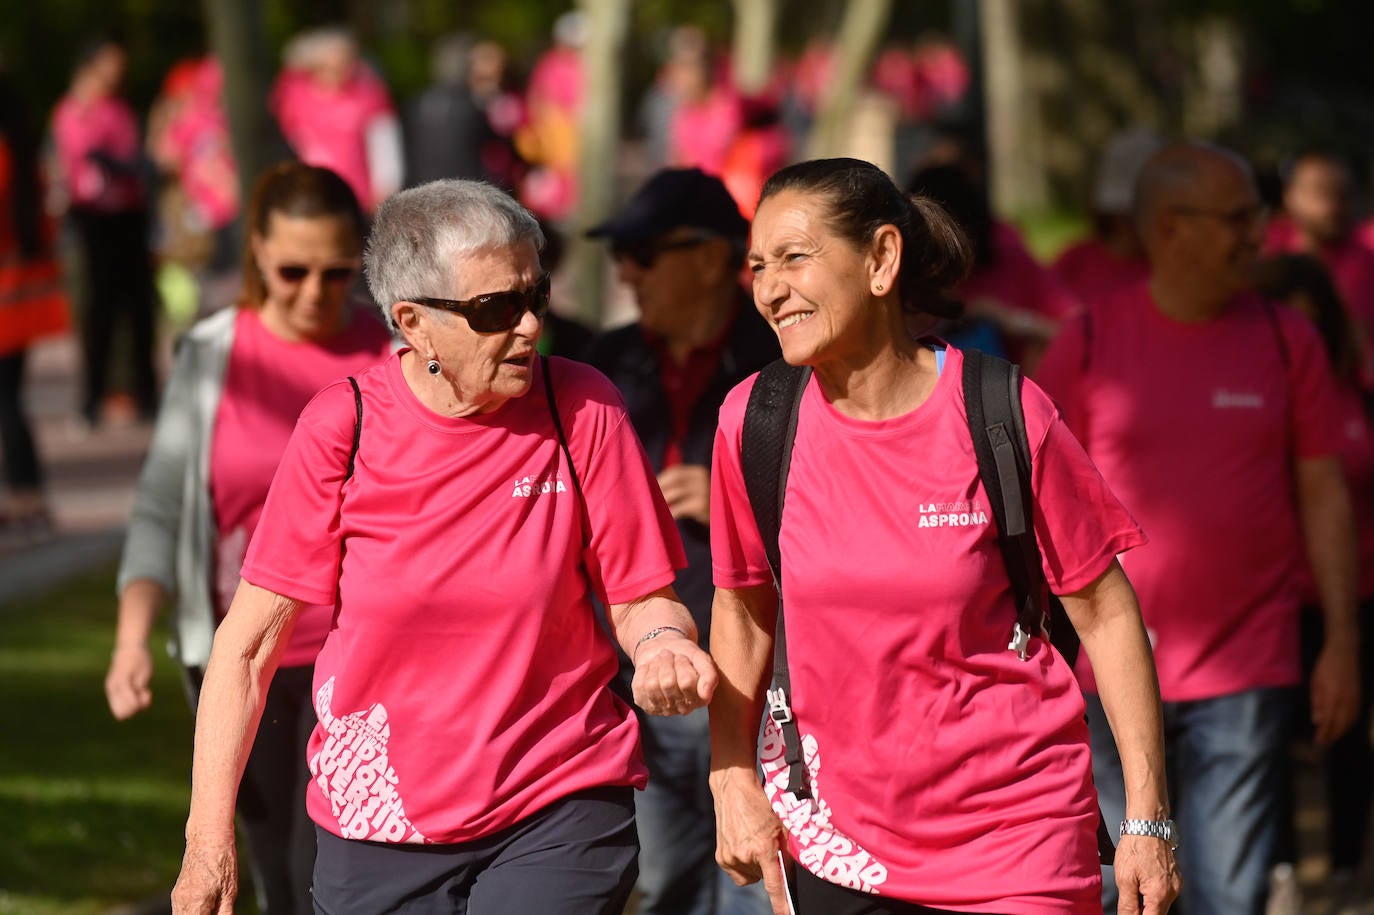
[[[205,676],[177,912],[232,910],[235,787],[297,609],[320,602],[316,911],[622,911],[646,772],[592,594],[647,712],[699,708],[717,675],[620,396],[536,353],[541,245],[475,181],[378,212],[368,283],[408,346],[322,390],[272,482]]]

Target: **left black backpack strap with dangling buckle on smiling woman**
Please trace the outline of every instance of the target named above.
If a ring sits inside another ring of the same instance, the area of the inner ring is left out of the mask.
[[[745,474],[749,506],[764,540],[768,565],[778,589],[778,624],[774,632],[774,687],[768,690],[768,716],[783,735],[783,760],[787,762],[787,790],[798,800],[811,798],[807,765],[801,753],[801,732],[791,713],[791,676],[787,669],[787,629],[783,624],[782,504],[787,492],[791,447],[797,438],[801,394],[811,379],[811,368],[776,360],[764,367],[749,392],[745,429],[739,444],[739,462]]]

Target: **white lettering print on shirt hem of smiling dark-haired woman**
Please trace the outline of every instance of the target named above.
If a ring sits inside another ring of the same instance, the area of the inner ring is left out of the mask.
[[[811,801],[798,801],[787,793],[782,731],[771,719],[764,724],[763,743],[758,747],[764,791],[797,844],[797,861],[823,881],[879,894],[878,888],[888,882],[888,867],[830,823],[830,804],[820,793],[820,749],[816,738],[804,734],[801,749],[811,776]]]

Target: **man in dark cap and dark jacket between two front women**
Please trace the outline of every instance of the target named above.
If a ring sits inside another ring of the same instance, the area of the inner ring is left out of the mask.
[[[638,323],[602,334],[588,363],[620,387],[635,430],[677,519],[687,567],[676,589],[710,632],[710,453],[730,389],[778,359],[778,339],[739,283],[749,223],[725,185],[699,169],[655,173],[592,228],[610,242]],[[622,670],[628,664],[622,664]],[[716,866],[716,820],[706,776],[706,712],[640,716],[649,787],[636,797],[643,846],[640,915],[767,915],[761,885],[735,886]]]

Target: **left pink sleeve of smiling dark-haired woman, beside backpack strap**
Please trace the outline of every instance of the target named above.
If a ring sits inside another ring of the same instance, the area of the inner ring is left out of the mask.
[[[768,552],[745,489],[739,462],[745,407],[754,379],[735,387],[720,408],[710,471],[710,565],[717,588],[747,588],[772,581]]]

